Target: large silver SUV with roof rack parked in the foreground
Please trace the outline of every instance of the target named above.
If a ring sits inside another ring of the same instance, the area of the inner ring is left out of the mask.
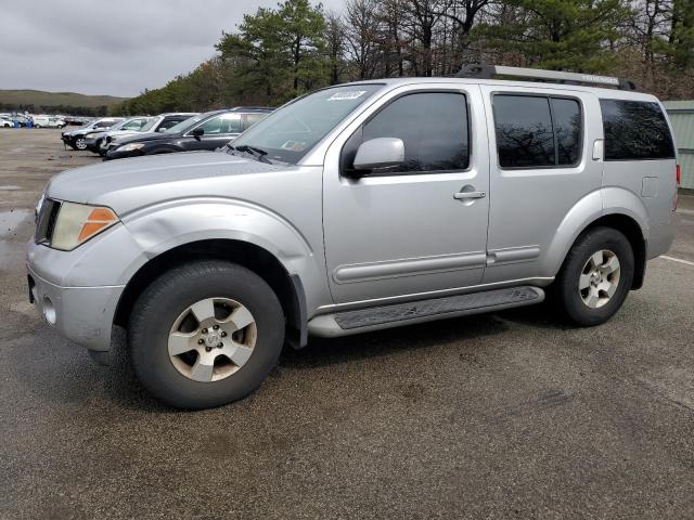
[[[28,245],[30,298],[98,361],[125,327],[143,385],[187,408],[248,394],[309,335],[545,292],[602,324],[672,240],[665,112],[617,78],[491,73],[331,87],[216,153],[64,172]]]

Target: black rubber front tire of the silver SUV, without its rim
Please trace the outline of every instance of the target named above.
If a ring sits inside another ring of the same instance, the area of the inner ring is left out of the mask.
[[[230,376],[195,381],[181,374],[168,353],[178,316],[206,298],[231,298],[255,318],[257,337],[248,361]],[[284,342],[284,314],[270,286],[253,271],[230,262],[200,260],[164,273],[134,304],[129,324],[131,362],[142,385],[179,408],[208,408],[255,391],[275,366]]]

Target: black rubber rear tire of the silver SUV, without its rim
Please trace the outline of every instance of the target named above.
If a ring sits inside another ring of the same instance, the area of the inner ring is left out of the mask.
[[[619,261],[619,282],[609,300],[599,308],[583,302],[579,281],[591,256],[613,251]],[[554,297],[564,316],[576,325],[592,327],[609,320],[621,307],[633,281],[634,258],[627,237],[613,227],[593,227],[582,233],[569,250],[554,283]]]

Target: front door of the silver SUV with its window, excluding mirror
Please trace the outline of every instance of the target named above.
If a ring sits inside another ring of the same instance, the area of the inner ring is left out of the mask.
[[[336,303],[480,283],[489,210],[481,107],[476,86],[400,88],[331,145],[323,225]],[[402,165],[363,177],[347,174],[360,142],[386,136],[403,141]],[[458,197],[471,191],[483,195]]]

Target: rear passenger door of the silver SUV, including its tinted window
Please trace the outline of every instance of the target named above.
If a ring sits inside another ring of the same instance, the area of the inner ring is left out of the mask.
[[[484,86],[490,157],[488,258],[484,282],[553,276],[549,247],[581,199],[602,210],[600,104],[566,89]],[[548,261],[545,261],[548,260]]]

